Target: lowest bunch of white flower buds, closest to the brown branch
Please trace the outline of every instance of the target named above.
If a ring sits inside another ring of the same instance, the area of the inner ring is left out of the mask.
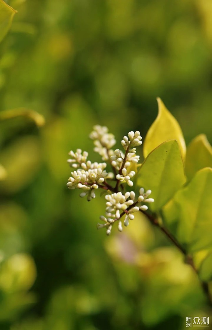
[[[148,209],[147,205],[141,205],[141,203],[153,203],[153,198],[146,198],[151,194],[151,190],[147,190],[144,193],[144,189],[140,188],[139,197],[135,201],[134,191],[126,192],[124,195],[121,192],[114,193],[111,195],[106,195],[106,212],[105,215],[101,215],[99,218],[104,223],[97,223],[97,229],[106,228],[106,234],[111,234],[112,226],[115,222],[118,222],[118,230],[122,231],[122,216],[124,217],[124,226],[128,226],[129,220],[134,219],[133,213],[139,210],[146,211]],[[123,211],[120,213],[120,211]]]

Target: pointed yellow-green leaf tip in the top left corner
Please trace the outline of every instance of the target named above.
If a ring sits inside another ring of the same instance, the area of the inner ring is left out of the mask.
[[[7,34],[15,13],[17,13],[15,9],[0,0],[0,42]]]

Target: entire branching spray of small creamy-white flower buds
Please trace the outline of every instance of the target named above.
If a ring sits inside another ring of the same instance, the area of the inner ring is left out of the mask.
[[[119,191],[119,184],[123,188],[123,183],[127,183],[132,187],[132,179],[135,175],[135,171],[130,170],[130,164],[136,164],[139,161],[139,156],[136,155],[136,146],[142,144],[142,137],[140,132],[129,132],[128,138],[124,136],[122,140],[122,146],[125,152],[120,149],[112,150],[111,148],[116,144],[116,140],[113,134],[108,133],[106,126],[95,125],[93,131],[89,137],[94,140],[94,151],[98,152],[103,161],[108,161],[112,166],[113,173],[105,170],[107,164],[105,162],[91,163],[88,158],[88,152],[81,149],[77,149],[76,152],[70,151],[71,156],[68,159],[68,163],[75,170],[71,172],[71,177],[68,179],[67,186],[69,189],[82,189],[80,197],[87,196],[87,200],[90,201],[95,198],[95,189],[103,188],[108,191],[105,196],[106,212],[105,216],[100,216],[103,224],[98,223],[97,228],[106,227],[107,235],[110,235],[114,222],[118,222],[118,229],[122,231],[122,216],[124,218],[124,226],[128,226],[129,220],[134,219],[133,213],[141,210],[146,211],[148,207],[141,203],[152,203],[153,198],[147,198],[151,194],[151,190],[144,192],[143,188],[140,188],[139,196],[135,201],[134,191],[126,192],[123,194]],[[132,147],[132,148],[131,148]],[[107,180],[114,179],[116,184],[112,186]],[[112,193],[113,192],[113,193]],[[109,194],[110,193],[110,194]],[[120,213],[121,212],[121,213]]]

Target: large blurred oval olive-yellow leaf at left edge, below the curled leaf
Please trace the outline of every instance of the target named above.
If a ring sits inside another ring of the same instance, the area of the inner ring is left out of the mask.
[[[19,138],[1,152],[1,161],[8,172],[1,181],[0,191],[14,193],[26,186],[39,170],[40,149],[38,140],[31,136]]]

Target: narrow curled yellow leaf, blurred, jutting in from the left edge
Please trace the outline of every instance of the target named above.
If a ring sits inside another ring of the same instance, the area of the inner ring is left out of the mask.
[[[19,116],[24,116],[32,119],[38,127],[41,127],[45,124],[44,116],[40,115],[36,111],[25,109],[25,108],[17,108],[13,110],[7,110],[0,112],[0,121],[10,118],[15,118]]]

